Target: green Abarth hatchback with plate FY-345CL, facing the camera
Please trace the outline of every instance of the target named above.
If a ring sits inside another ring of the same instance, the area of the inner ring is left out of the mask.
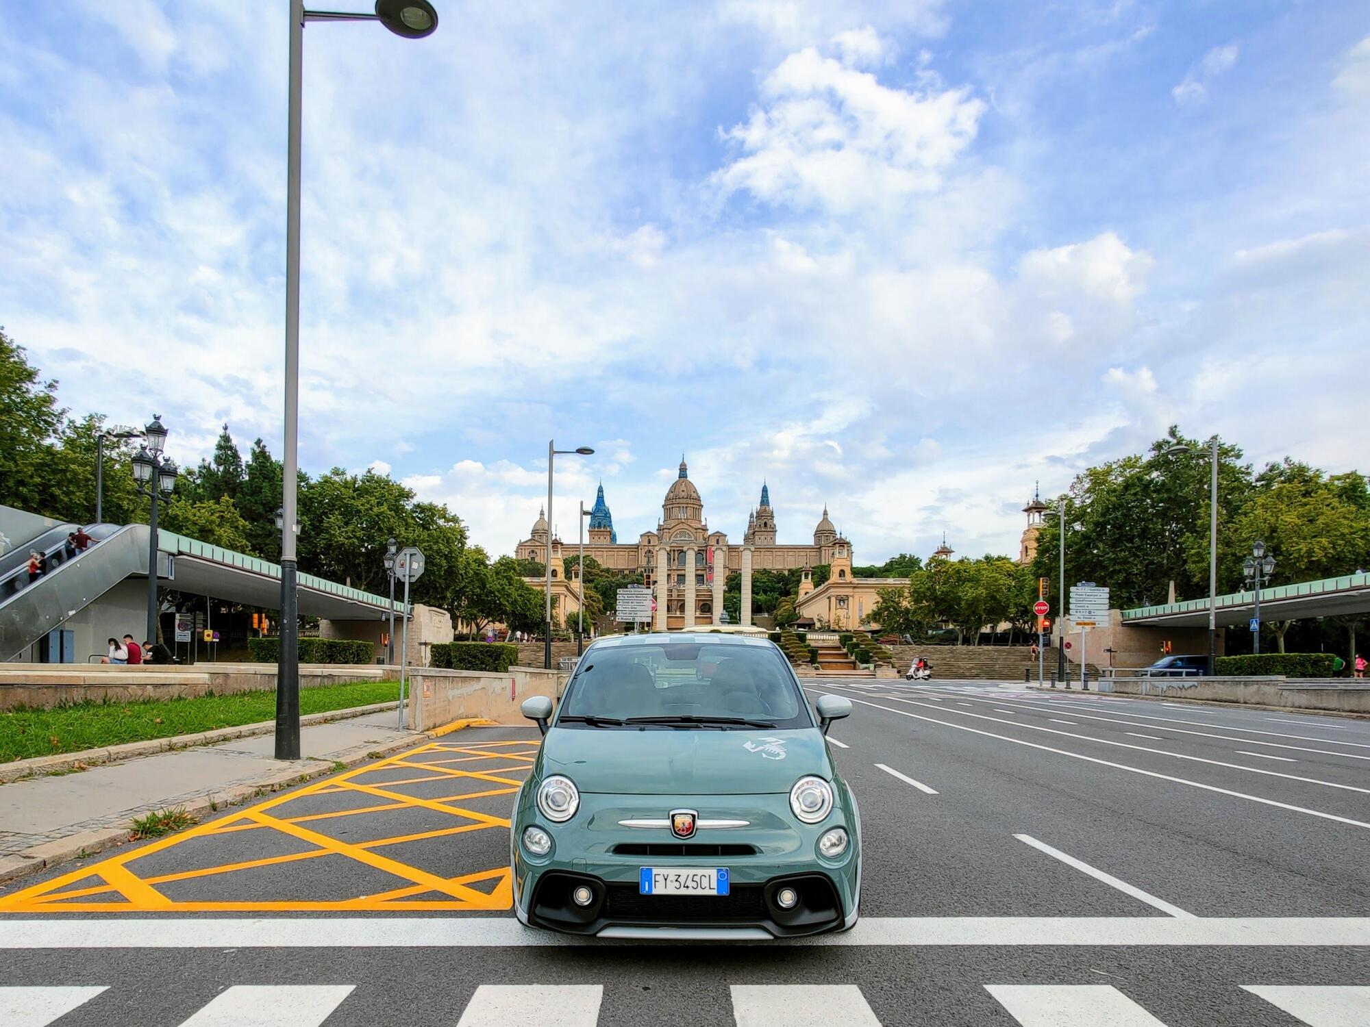
[[[514,801],[514,909],[611,938],[756,939],[845,930],[860,902],[860,815],[771,642],[725,634],[593,642],[552,701]]]

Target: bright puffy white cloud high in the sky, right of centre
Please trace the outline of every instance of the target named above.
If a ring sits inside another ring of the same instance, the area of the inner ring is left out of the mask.
[[[814,48],[785,58],[762,96],[766,104],[725,133],[741,155],[715,183],[725,194],[837,211],[940,188],[985,111],[969,89],[884,86]]]

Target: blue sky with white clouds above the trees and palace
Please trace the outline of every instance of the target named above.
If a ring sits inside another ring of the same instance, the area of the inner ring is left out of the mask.
[[[347,7],[338,0],[333,7]],[[355,3],[362,8],[364,3]],[[21,10],[22,8],[22,10]],[[1370,7],[438,4],[306,30],[301,461],[492,553],[545,449],[858,560],[1015,552],[1171,422],[1365,470]],[[286,3],[0,7],[0,323],[74,411],[279,452]]]

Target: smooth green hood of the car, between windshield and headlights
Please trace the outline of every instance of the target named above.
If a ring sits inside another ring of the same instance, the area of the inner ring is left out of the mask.
[[[564,774],[581,791],[621,796],[747,796],[789,791],[806,774],[832,779],[814,727],[718,731],[553,727],[543,775]]]

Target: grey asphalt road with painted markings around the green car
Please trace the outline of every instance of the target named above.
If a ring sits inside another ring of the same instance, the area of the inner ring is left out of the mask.
[[[822,692],[855,705],[830,731],[864,831],[849,934],[518,927],[485,820],[536,731],[467,731],[23,882],[49,891],[0,913],[0,1024],[1370,1024],[1370,723],[1021,685]],[[358,801],[378,808],[341,809]]]

